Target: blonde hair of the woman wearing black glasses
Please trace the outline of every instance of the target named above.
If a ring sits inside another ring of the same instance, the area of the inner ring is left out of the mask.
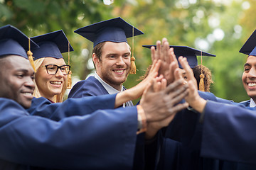
[[[39,67],[41,67],[41,64],[43,63],[43,60],[45,58],[46,57],[43,57],[43,58],[40,58],[40,59],[34,61],[36,71],[39,69]],[[36,77],[36,75],[35,75],[35,77]],[[40,91],[38,89],[38,86],[36,85],[36,79],[34,79],[34,81],[35,81],[35,90],[33,92],[33,96],[36,97],[36,98],[42,97],[41,94],[40,94]],[[68,86],[68,79],[65,79],[64,84],[63,84],[63,89],[61,90],[60,94],[56,94],[54,96],[53,102],[55,102],[55,103],[63,102],[63,97],[65,95],[65,91],[67,89],[67,86]]]

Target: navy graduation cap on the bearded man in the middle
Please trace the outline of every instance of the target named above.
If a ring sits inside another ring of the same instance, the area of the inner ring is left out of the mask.
[[[127,42],[127,38],[144,34],[120,17],[78,28],[74,32],[92,41],[93,47],[105,41]]]

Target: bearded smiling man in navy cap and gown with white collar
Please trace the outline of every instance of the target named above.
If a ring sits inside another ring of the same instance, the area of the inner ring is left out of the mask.
[[[127,38],[141,35],[122,18],[113,18],[75,30],[93,42],[92,60],[95,76],[78,82],[71,89],[68,98],[116,94],[124,91],[122,86],[131,69],[131,50]],[[125,106],[133,106],[129,101]]]

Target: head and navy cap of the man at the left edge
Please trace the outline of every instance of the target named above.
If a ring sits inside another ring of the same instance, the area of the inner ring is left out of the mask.
[[[0,35],[0,97],[10,98],[23,108],[33,99],[34,71],[28,61],[28,38],[13,26],[1,27]],[[21,46],[22,45],[22,46]],[[31,48],[38,47],[31,41]]]

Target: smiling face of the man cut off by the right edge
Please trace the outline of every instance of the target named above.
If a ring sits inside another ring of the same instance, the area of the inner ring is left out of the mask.
[[[256,57],[250,55],[247,57],[247,62],[244,66],[244,72],[242,74],[242,84],[254,101],[256,101]]]

